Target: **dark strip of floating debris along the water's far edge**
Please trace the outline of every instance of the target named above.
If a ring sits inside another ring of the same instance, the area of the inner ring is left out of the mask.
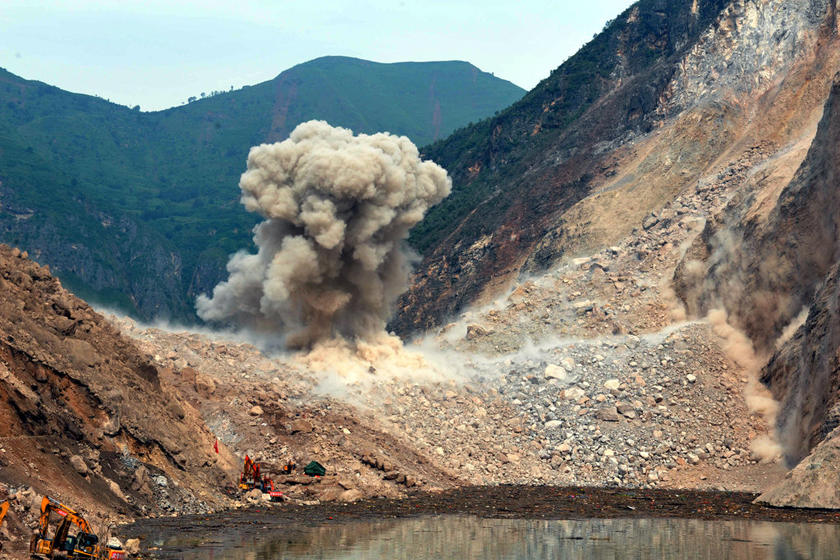
[[[263,533],[272,525],[315,525],[365,518],[417,515],[476,515],[520,519],[662,518],[752,519],[808,523],[840,523],[840,511],[771,508],[753,504],[755,494],[618,488],[551,486],[475,486],[402,500],[368,499],[318,505],[271,504],[213,515],[145,519],[123,528],[125,537],[167,540],[189,534]]]

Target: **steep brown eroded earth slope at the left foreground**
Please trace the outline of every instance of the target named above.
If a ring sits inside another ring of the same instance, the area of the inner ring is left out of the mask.
[[[3,245],[0,403],[7,485],[105,516],[226,503],[233,458],[213,452],[199,414],[46,267]]]

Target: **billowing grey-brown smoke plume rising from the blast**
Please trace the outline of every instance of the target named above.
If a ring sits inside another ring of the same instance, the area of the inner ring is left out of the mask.
[[[408,285],[404,240],[451,185],[408,138],[323,121],[251,148],[239,186],[245,208],[266,218],[258,252],[231,257],[229,279],[198,298],[199,316],[277,329],[294,347],[382,333]]]

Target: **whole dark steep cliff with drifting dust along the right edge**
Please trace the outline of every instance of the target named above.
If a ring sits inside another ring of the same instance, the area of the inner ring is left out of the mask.
[[[840,75],[806,158],[772,210],[762,210],[766,193],[739,193],[675,276],[691,313],[722,306],[762,353],[775,351],[762,381],[780,401],[777,429],[794,464],[838,422],[838,161]],[[804,325],[780,339],[805,309]]]

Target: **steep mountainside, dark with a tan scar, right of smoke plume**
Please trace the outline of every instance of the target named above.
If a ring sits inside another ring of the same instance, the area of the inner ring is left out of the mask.
[[[833,10],[638,2],[522,101],[431,146],[454,192],[413,234],[426,256],[393,327],[440,324],[521,271],[615,241],[724,156],[753,165],[768,133],[746,139],[747,124],[782,101],[779,82],[834,28]],[[774,107],[781,136],[803,126]]]

